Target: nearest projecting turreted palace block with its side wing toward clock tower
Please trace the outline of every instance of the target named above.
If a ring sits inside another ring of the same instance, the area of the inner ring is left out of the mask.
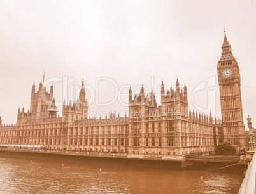
[[[161,105],[153,91],[145,96],[141,87],[132,100],[129,91],[129,153],[143,155],[184,155],[213,152],[221,134],[213,118],[188,112],[187,87],[165,92],[161,86]],[[215,140],[216,139],[216,140]]]

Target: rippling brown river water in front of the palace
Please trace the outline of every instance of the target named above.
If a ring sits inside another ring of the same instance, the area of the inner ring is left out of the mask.
[[[130,167],[86,157],[56,158],[0,155],[0,193],[238,193],[244,178],[243,174]]]

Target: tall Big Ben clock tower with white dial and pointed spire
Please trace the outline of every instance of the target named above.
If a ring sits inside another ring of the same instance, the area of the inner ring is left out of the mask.
[[[241,79],[238,62],[232,55],[226,32],[222,44],[222,56],[218,61],[217,70],[224,141],[229,141],[239,151],[245,148],[246,144],[240,88]]]

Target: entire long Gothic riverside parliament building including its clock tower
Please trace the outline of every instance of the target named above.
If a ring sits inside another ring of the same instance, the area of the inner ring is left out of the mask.
[[[63,103],[57,117],[53,86],[47,92],[42,82],[33,84],[28,112],[18,108],[17,123],[5,126],[0,120],[1,145],[44,145],[50,150],[127,153],[129,157],[162,158],[211,153],[215,146],[229,141],[237,150],[246,147],[241,102],[239,66],[232,55],[226,34],[217,65],[222,120],[188,110],[186,85],[166,91],[161,86],[161,103],[153,91],[139,94],[129,90],[129,116],[91,119],[84,82],[78,101]],[[50,101],[51,103],[48,103]]]

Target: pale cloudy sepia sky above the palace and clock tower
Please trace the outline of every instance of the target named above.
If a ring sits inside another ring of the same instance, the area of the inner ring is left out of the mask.
[[[221,119],[217,61],[224,27],[241,74],[243,115],[256,127],[256,1],[0,1],[0,115],[17,121],[31,89],[76,100],[89,112],[127,111],[131,86],[159,93],[176,79],[188,107]],[[134,93],[133,93],[134,94]],[[60,106],[60,115],[62,106]]]

